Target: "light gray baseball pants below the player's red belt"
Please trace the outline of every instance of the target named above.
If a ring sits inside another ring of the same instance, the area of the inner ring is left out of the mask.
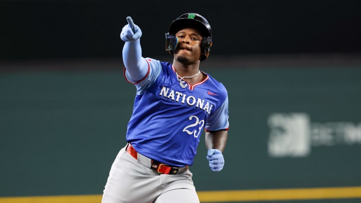
[[[117,154],[103,191],[102,203],[199,203],[192,172],[160,174],[149,158],[132,157],[123,147]]]

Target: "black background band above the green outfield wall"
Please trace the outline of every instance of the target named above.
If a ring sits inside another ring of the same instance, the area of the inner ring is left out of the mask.
[[[0,0],[0,60],[121,56],[131,16],[143,53],[163,55],[164,34],[195,12],[213,30],[212,54],[360,53],[358,0]]]

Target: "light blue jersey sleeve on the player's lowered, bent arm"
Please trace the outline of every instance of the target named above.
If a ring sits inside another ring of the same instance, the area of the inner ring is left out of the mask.
[[[206,124],[206,131],[216,131],[216,130],[228,130],[229,128],[229,115],[228,115],[228,96],[221,105],[212,115],[208,117]]]

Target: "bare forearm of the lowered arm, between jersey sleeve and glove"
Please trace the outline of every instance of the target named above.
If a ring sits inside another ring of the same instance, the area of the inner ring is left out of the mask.
[[[207,149],[219,149],[223,152],[226,147],[228,137],[227,130],[206,131]]]

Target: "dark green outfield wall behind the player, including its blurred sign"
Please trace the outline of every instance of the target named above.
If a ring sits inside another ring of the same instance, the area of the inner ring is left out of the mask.
[[[287,202],[361,201],[361,67],[202,70],[228,89],[230,128],[221,172],[209,169],[201,138],[190,168],[198,191],[353,188]],[[1,73],[0,202],[99,198],[134,95],[120,69]]]

